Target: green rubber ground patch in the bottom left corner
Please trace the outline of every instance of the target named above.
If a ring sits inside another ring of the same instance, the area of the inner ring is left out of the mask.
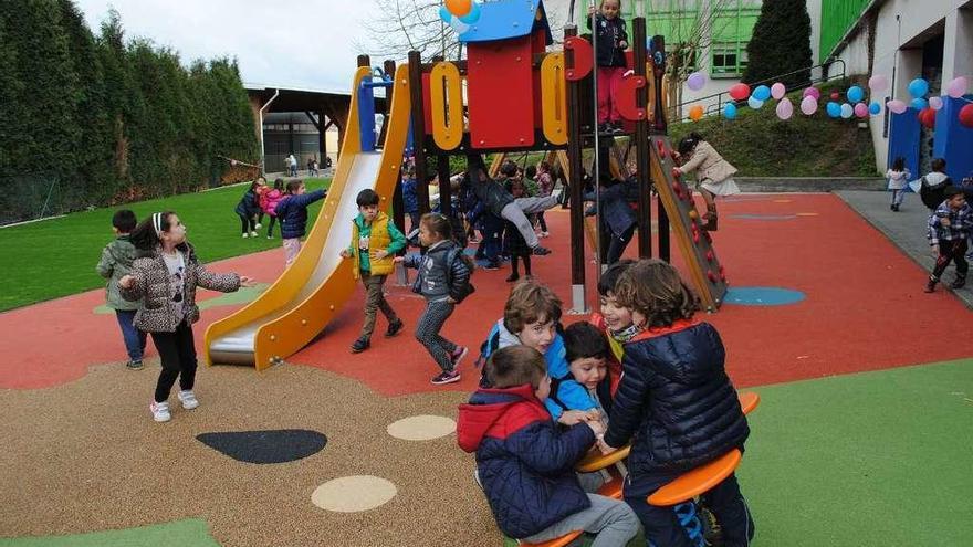
[[[0,538],[0,547],[219,547],[198,518],[72,536]]]

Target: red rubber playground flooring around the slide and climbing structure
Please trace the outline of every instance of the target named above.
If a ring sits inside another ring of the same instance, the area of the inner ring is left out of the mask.
[[[830,194],[746,194],[721,202],[718,256],[732,286],[771,286],[805,293],[785,306],[724,305],[707,317],[723,336],[728,368],[737,386],[933,362],[973,355],[973,339],[955,336],[970,312],[951,294],[922,292],[927,273],[901,254],[843,201]],[[736,215],[742,215],[737,218]],[[569,306],[571,264],[566,211],[548,213],[554,253],[534,259],[534,274]],[[923,227],[917,227],[922,230]],[[629,246],[629,254],[636,242]],[[679,265],[673,243],[673,262]],[[270,251],[212,265],[270,282],[281,271],[282,252]],[[594,265],[589,264],[589,287]],[[443,335],[470,346],[463,380],[431,386],[437,367],[410,336],[423,302],[406,287],[389,286],[389,302],[407,330],[381,338],[379,319],[373,346],[351,355],[362,320],[363,293],[353,299],[314,344],[289,362],[320,367],[359,379],[387,395],[453,389],[469,391],[479,374],[472,360],[492,322],[500,317],[509,270],[478,270],[477,293],[458,307]],[[597,306],[594,288],[589,305]],[[208,293],[205,297],[212,297]],[[36,389],[83,376],[88,366],[125,359],[112,315],[94,315],[102,291],[61,298],[0,315],[0,388]],[[236,307],[203,312],[196,327],[201,344],[207,322]],[[566,316],[575,320],[584,316]],[[254,372],[254,381],[260,381]]]

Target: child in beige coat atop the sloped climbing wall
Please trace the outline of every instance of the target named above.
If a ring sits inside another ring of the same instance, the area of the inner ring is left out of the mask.
[[[676,159],[681,167],[673,169],[678,177],[699,169],[697,180],[700,193],[707,202],[707,213],[703,214],[703,230],[716,231],[716,196],[733,196],[740,193],[733,175],[736,168],[723,159],[716,149],[703,140],[702,136],[692,132],[679,143],[679,154]]]

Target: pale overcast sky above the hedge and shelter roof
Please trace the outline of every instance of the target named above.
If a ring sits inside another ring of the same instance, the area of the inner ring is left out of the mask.
[[[193,59],[236,56],[248,84],[347,91],[372,0],[75,0],[98,32],[108,9],[128,38],[151,39]],[[373,64],[378,64],[373,60]]]

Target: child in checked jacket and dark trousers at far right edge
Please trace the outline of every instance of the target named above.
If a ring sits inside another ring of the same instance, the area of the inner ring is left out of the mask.
[[[943,202],[929,217],[929,244],[932,245],[937,259],[935,267],[925,284],[927,293],[935,291],[935,284],[950,262],[956,264],[956,278],[950,285],[952,288],[963,288],[966,284],[966,271],[970,269],[964,255],[966,239],[973,231],[973,209],[959,188],[949,186],[943,190]]]

